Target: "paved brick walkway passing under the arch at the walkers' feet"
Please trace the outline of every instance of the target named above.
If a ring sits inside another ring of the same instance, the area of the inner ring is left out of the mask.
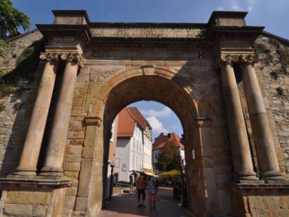
[[[146,207],[138,207],[138,199],[136,193],[117,194],[107,201],[106,208],[96,217],[191,217],[187,207],[181,206],[180,199],[173,198],[173,188],[159,187],[158,198],[156,201],[156,209],[149,209],[148,194],[144,205]]]

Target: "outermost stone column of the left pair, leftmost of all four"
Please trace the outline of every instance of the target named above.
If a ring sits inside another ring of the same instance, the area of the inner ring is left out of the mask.
[[[41,53],[40,58],[46,61],[45,68],[36,96],[19,166],[14,175],[36,175],[36,166],[54,89],[58,54]]]

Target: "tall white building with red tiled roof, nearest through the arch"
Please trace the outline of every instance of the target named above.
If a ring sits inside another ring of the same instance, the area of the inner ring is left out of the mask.
[[[136,182],[140,172],[152,172],[151,126],[137,107],[125,107],[118,114],[114,180]]]

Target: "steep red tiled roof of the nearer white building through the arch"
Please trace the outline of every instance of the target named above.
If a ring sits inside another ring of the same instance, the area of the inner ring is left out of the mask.
[[[136,123],[138,123],[143,130],[147,127],[147,121],[137,107],[125,107],[121,110],[118,114],[118,137],[133,136]]]

